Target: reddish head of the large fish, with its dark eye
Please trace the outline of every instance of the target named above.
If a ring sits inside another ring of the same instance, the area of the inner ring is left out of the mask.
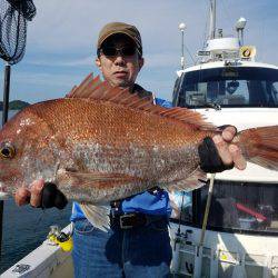
[[[57,143],[50,125],[28,107],[0,130],[0,191],[13,192],[33,180],[51,180]]]

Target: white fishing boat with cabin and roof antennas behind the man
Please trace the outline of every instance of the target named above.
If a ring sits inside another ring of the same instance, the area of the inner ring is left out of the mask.
[[[199,63],[177,72],[173,103],[239,131],[277,125],[278,67],[256,62],[256,48],[242,46],[244,19],[238,38],[216,36],[216,0],[210,4],[210,38]],[[278,173],[248,163],[216,175],[209,214],[207,196],[208,187],[172,196],[172,276],[278,277]],[[1,277],[72,276],[70,252],[44,241]]]

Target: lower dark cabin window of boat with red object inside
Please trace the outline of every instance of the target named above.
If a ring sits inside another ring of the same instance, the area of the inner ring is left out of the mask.
[[[181,210],[182,221],[201,227],[207,193],[208,186],[186,193],[188,199]],[[278,232],[277,199],[278,183],[216,180],[208,228]],[[176,216],[172,217],[179,219],[179,214],[176,211]]]

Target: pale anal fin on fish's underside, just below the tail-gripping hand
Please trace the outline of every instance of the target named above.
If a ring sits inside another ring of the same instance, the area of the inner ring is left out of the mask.
[[[171,183],[168,191],[191,191],[206,185],[207,173],[201,169],[195,170],[187,179]]]

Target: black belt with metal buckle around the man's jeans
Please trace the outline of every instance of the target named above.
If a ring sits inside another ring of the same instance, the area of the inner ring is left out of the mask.
[[[143,214],[110,215],[110,226],[120,227],[121,229],[143,227],[159,220],[168,222],[166,216],[148,216]]]

